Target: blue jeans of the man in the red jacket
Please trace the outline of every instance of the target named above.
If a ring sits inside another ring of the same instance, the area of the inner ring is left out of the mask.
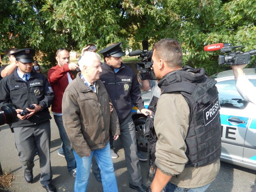
[[[74,157],[73,150],[71,148],[68,135],[63,126],[62,115],[53,115],[53,117],[59,129],[60,139],[62,140],[63,153],[67,162],[67,168],[68,168],[68,171],[71,171],[72,169],[75,169],[77,165],[75,163],[75,157]]]

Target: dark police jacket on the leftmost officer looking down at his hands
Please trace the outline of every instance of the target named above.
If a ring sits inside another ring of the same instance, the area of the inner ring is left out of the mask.
[[[12,128],[39,124],[51,119],[48,107],[53,100],[53,91],[44,75],[31,71],[26,83],[15,70],[13,74],[0,81],[0,93],[0,107],[8,103],[14,104],[16,109],[21,110],[26,110],[29,104],[42,106],[42,110],[30,118],[18,119],[17,122],[12,123]]]

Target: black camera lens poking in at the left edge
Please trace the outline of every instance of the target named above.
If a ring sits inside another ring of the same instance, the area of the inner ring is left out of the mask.
[[[10,124],[16,120],[17,112],[14,110],[13,104],[8,104],[0,109],[0,125],[2,124]]]

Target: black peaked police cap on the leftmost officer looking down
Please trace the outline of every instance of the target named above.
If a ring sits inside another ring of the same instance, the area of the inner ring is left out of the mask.
[[[20,49],[11,53],[10,55],[14,55],[15,59],[21,63],[31,63],[34,62],[33,56],[35,54],[34,49]]]

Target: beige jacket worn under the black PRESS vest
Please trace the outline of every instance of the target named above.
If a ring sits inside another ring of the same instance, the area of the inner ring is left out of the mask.
[[[155,113],[154,127],[157,167],[166,175],[173,175],[171,183],[183,188],[202,187],[211,183],[220,169],[220,161],[199,168],[188,167],[185,138],[188,132],[190,110],[180,93],[160,96]]]

